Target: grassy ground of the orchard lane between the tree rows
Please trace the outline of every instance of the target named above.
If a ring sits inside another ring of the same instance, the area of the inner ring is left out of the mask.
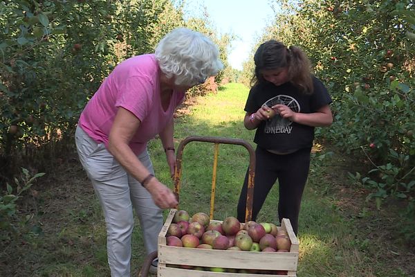
[[[247,94],[246,87],[228,84],[219,93],[179,110],[176,146],[194,135],[245,139],[254,146],[254,132],[242,123]],[[149,151],[156,175],[172,187],[160,142],[152,141]],[[236,215],[248,158],[239,145],[219,146],[215,219]],[[186,145],[180,208],[209,213],[212,164],[212,144]],[[415,276],[415,254],[397,235],[393,206],[377,211],[367,204],[365,191],[347,181],[346,172],[353,166],[353,161],[330,145],[316,145],[299,219],[298,276]],[[0,241],[0,276],[109,276],[100,206],[75,152],[47,173],[35,185],[39,194],[27,197],[21,206],[22,213],[35,214],[33,221],[42,226],[43,233]],[[277,222],[277,194],[275,186],[258,221]],[[145,258],[136,222],[134,275]]]

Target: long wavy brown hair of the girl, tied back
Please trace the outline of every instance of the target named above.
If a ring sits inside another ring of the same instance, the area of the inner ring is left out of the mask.
[[[274,39],[261,44],[254,55],[255,75],[251,86],[266,82],[262,71],[288,68],[289,82],[303,93],[313,93],[311,63],[307,55],[297,46],[287,48],[282,42]]]

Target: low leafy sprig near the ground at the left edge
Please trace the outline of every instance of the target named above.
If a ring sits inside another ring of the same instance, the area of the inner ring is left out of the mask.
[[[15,178],[14,186],[6,184],[7,190],[0,195],[0,230],[1,233],[17,234],[24,231],[23,228],[28,225],[32,215],[26,215],[23,219],[17,215],[17,200],[23,196],[26,190],[29,190],[35,180],[45,175],[45,173],[37,173],[31,175],[26,168],[21,168],[20,179]],[[31,231],[39,233],[39,226],[34,226]]]

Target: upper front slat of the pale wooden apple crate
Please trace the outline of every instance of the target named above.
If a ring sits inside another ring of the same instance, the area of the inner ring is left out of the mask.
[[[172,265],[234,269],[297,270],[298,253],[254,252],[159,245],[158,260]]]

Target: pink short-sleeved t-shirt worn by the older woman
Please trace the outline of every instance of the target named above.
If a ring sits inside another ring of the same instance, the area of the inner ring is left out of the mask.
[[[118,107],[131,111],[141,124],[129,145],[134,153],[145,150],[147,142],[172,119],[185,96],[174,91],[165,111],[160,100],[159,67],[154,54],[138,55],[118,64],[86,104],[79,125],[91,138],[106,146]]]

